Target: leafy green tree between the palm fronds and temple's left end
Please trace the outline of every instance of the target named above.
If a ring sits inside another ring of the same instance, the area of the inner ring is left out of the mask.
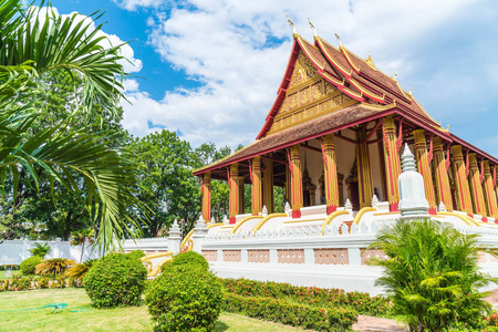
[[[200,212],[200,187],[191,175],[195,155],[190,145],[163,129],[135,138],[127,149],[139,173],[137,197],[153,211],[144,232],[155,237],[175,219],[183,219],[190,229]]]

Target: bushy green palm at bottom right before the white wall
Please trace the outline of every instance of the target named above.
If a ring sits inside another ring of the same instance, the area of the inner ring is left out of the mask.
[[[479,271],[476,235],[433,220],[398,221],[371,248],[388,257],[374,262],[385,268],[376,283],[393,295],[393,311],[411,331],[476,326],[490,309],[478,289],[496,279]]]

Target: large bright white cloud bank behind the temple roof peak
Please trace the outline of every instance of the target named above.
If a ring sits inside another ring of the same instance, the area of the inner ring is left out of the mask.
[[[138,6],[138,1],[122,2]],[[377,68],[403,77],[415,71],[412,45],[457,20],[471,3],[183,1],[168,14],[159,12],[148,20],[149,42],[168,64],[203,86],[166,92],[162,101],[144,92],[128,93],[134,105],[124,105],[124,126],[144,135],[152,121],[179,129],[193,145],[248,144],[264,122],[289,59],[292,30],[287,14],[308,40],[312,41],[311,18],[321,37],[335,42],[335,29],[349,49],[362,56],[370,50]]]

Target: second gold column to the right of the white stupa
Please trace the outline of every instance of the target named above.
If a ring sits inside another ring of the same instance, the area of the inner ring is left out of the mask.
[[[433,164],[436,179],[436,193],[439,201],[446,207],[447,211],[453,211],[452,188],[449,187],[448,169],[446,165],[445,153],[439,137],[433,139]],[[449,158],[449,156],[447,156]]]

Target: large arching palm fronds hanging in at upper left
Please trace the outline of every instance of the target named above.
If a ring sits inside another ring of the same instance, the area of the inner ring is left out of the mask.
[[[76,173],[98,229],[95,243],[108,249],[113,238],[139,230],[137,211],[145,207],[132,189],[134,168],[84,128],[60,123],[28,135],[40,113],[20,101],[37,87],[39,75],[65,70],[83,81],[85,110],[100,104],[113,114],[124,97],[121,45],[103,48],[105,37],[97,37],[102,25],[92,31],[92,20],[61,18],[50,7],[46,12],[24,9],[20,0],[0,0],[0,184],[12,180],[15,200],[21,170],[35,188],[45,173],[51,184],[77,191]]]

